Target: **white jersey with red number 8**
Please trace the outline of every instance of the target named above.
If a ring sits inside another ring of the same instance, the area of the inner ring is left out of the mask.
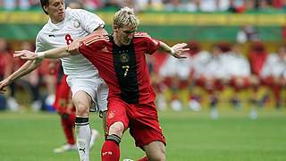
[[[104,27],[105,22],[96,14],[81,9],[67,8],[64,20],[54,24],[50,19],[36,39],[36,52],[45,51],[55,47],[64,47],[72,39],[88,36],[98,27]],[[83,55],[71,55],[61,58],[63,72],[69,76],[99,78],[97,69]]]

